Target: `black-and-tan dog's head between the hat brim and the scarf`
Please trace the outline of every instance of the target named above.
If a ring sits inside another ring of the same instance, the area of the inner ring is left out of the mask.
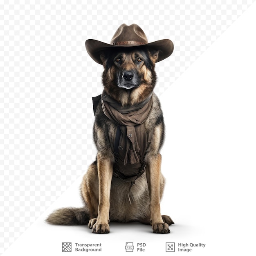
[[[146,99],[156,83],[158,51],[130,47],[102,52],[102,82],[106,92],[123,105]]]

